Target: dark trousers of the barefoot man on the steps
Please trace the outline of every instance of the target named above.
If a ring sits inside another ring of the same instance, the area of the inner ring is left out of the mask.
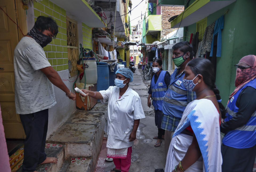
[[[20,114],[25,130],[23,172],[35,171],[37,164],[46,159],[45,140],[48,129],[48,109],[32,114]]]

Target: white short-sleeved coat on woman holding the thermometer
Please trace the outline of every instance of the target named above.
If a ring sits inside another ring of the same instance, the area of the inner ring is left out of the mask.
[[[103,97],[101,102],[108,102],[107,106],[107,147],[122,149],[131,147],[129,135],[133,130],[134,120],[145,118],[138,93],[130,87],[119,99],[119,88],[110,86],[107,90],[99,91]]]

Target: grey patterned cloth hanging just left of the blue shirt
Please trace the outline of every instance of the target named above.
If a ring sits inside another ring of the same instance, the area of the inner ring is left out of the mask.
[[[206,54],[206,52],[211,51],[211,42],[213,41],[213,31],[214,31],[215,22],[205,28],[203,33],[202,48],[200,50],[200,55]],[[198,55],[199,55],[198,54]]]

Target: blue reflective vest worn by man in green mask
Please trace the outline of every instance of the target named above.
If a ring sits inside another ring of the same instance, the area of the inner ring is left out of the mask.
[[[171,74],[170,85],[165,93],[165,98],[163,100],[162,112],[165,115],[181,118],[183,111],[188,104],[187,89],[183,86],[182,83],[182,79],[185,73],[175,79],[177,73],[178,71],[176,68],[173,74]]]

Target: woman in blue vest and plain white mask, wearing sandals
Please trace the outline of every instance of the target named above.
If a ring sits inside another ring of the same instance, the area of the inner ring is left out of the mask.
[[[155,59],[152,64],[154,74],[151,78],[151,83],[149,87],[149,97],[147,98],[147,105],[150,107],[152,98],[152,103],[155,108],[155,126],[158,128],[158,136],[153,137],[157,139],[155,147],[161,146],[162,139],[164,139],[165,130],[161,129],[162,123],[162,103],[165,93],[170,84],[170,74],[168,71],[163,71],[162,60]]]

